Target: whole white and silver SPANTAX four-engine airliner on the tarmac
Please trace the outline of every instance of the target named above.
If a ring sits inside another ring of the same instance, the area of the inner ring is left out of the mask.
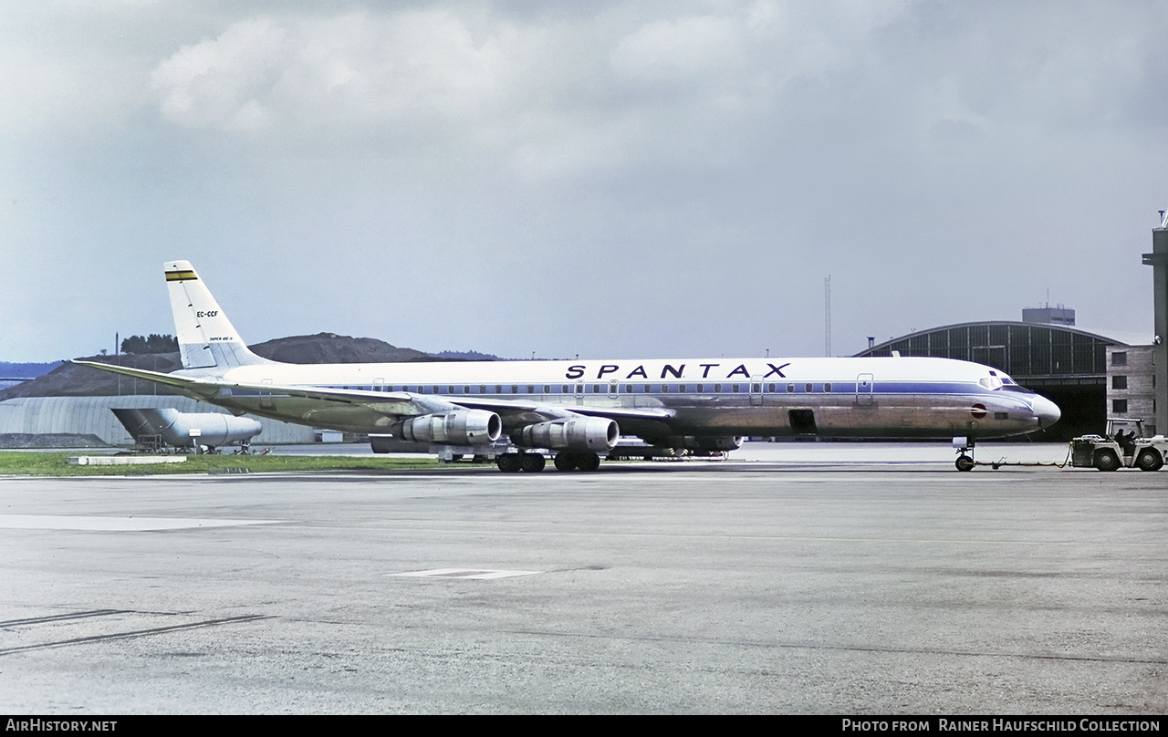
[[[968,361],[681,359],[292,364],[248,349],[186,260],[164,264],[182,369],[76,361],[250,413],[431,452],[495,453],[503,472],[596,471],[618,439],[715,453],[743,436],[978,439],[1055,424],[1054,402]],[[509,444],[503,441],[507,436]],[[514,450],[512,450],[514,449]],[[499,452],[499,451],[502,452]]]

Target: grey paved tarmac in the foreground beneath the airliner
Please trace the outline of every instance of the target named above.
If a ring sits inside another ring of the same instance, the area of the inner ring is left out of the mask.
[[[1168,709],[1168,471],[735,457],[2,479],[0,711]]]

